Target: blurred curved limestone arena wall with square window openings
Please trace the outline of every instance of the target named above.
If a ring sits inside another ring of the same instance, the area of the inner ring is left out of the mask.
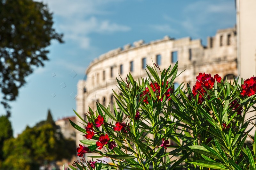
[[[161,70],[179,60],[176,84],[188,82],[191,87],[199,72],[219,74],[222,78],[237,76],[236,28],[218,30],[208,37],[207,46],[201,40],[191,38],[173,39],[165,36],[161,40],[144,43],[143,40],[111,50],[90,63],[86,70],[87,79],[77,85],[76,112],[82,117],[88,106],[96,109],[96,102],[112,104],[112,89],[118,92],[116,78],[125,79],[129,72],[134,79],[147,77],[146,64],[158,63]],[[77,118],[77,121],[78,118]],[[83,140],[77,134],[77,143]]]

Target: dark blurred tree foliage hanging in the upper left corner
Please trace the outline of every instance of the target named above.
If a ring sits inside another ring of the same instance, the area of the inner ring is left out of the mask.
[[[48,60],[51,40],[62,41],[52,28],[52,13],[46,4],[33,0],[0,0],[0,88],[2,104],[15,100],[25,78]]]

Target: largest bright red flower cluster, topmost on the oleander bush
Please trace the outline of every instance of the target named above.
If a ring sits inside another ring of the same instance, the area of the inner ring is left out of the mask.
[[[196,97],[196,94],[199,94],[198,103],[202,103],[204,100],[203,96],[206,92],[204,90],[204,87],[207,90],[212,89],[215,81],[217,81],[218,83],[220,83],[221,81],[221,77],[218,74],[215,74],[214,77],[212,77],[211,74],[199,73],[199,75],[196,76],[196,79],[197,81],[196,84],[193,86],[192,93],[194,97]]]

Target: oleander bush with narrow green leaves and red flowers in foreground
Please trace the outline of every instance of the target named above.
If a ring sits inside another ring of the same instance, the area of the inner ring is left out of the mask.
[[[75,112],[81,125],[70,123],[84,140],[77,148],[81,159],[70,168],[255,170],[256,139],[248,132],[256,78],[239,85],[239,78],[231,83],[199,73],[192,88],[175,89],[177,69],[178,63],[164,70],[154,64],[146,79],[116,79],[113,108],[97,103],[86,120]]]

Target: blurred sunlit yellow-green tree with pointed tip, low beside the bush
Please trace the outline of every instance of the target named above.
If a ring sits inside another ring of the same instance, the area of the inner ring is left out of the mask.
[[[56,131],[55,124],[44,121],[4,142],[2,168],[35,170],[44,162],[71,159],[75,147],[75,141],[64,139],[61,132]]]

